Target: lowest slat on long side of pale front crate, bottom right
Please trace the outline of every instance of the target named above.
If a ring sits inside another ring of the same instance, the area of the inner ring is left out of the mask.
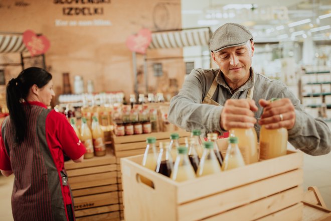
[[[303,208],[303,203],[300,202],[288,208],[282,209],[278,212],[259,218],[256,221],[279,221],[279,220],[300,221],[302,220],[302,208]]]

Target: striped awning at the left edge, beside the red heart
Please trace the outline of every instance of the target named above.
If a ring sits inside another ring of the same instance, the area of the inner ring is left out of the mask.
[[[0,53],[26,52],[22,34],[0,33]]]

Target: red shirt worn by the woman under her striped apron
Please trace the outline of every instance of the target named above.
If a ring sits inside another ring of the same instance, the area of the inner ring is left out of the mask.
[[[41,102],[31,101],[29,103],[30,105],[38,105],[47,108],[47,106]],[[2,135],[0,139],[0,169],[12,170],[10,157],[8,156],[5,148]],[[51,111],[46,118],[46,140],[50,148],[54,164],[56,165],[59,173],[64,169],[63,152],[66,153],[66,155],[72,160],[80,158],[86,152],[85,146],[78,139],[67,118],[63,114],[57,113],[54,110]],[[62,194],[64,196],[65,204],[71,204],[72,201],[69,186],[62,187]]]

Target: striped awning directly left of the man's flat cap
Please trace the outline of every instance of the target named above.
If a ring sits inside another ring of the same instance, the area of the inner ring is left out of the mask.
[[[149,49],[183,48],[209,45],[212,36],[210,28],[185,29],[180,31],[153,32]]]

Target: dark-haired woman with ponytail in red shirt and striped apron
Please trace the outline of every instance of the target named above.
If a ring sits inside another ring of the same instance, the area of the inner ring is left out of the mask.
[[[52,75],[31,67],[9,81],[1,127],[0,170],[15,175],[14,220],[74,220],[64,154],[82,162],[85,147],[64,115],[47,109]]]

